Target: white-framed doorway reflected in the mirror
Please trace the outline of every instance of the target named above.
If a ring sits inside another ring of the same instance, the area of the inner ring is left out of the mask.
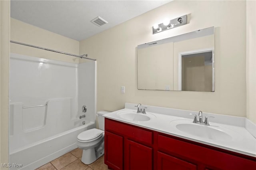
[[[179,57],[179,90],[214,91],[213,50],[183,52]]]

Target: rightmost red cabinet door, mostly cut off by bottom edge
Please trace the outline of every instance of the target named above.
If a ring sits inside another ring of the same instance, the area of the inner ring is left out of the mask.
[[[173,156],[157,152],[158,170],[196,170],[197,166]]]

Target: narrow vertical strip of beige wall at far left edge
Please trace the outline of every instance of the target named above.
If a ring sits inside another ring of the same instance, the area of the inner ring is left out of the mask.
[[[9,162],[10,1],[0,1],[0,163]],[[2,168],[0,169],[8,169]]]

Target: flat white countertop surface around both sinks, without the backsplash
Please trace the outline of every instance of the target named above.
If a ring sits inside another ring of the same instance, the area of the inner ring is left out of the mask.
[[[134,105],[134,104],[132,104]],[[149,107],[149,106],[147,106]],[[165,108],[165,109],[169,109],[169,108]],[[154,108],[148,109],[148,110],[154,110]],[[172,114],[175,110],[177,110],[177,112],[179,111],[183,111],[183,110],[178,110],[178,109],[172,109],[172,111],[170,111],[169,115],[166,114],[159,114],[159,113],[154,113],[154,112],[147,112],[148,116],[151,118],[150,121],[128,121],[126,119],[122,119],[120,116],[117,115],[117,113],[119,113],[120,111],[130,111],[130,112],[135,112],[135,109],[121,109],[118,111],[114,111],[108,114],[103,115],[106,118],[109,119],[113,119],[116,121],[120,121],[120,122],[124,122],[124,123],[128,123],[130,125],[136,125],[138,127],[143,127],[143,128],[147,128],[150,130],[155,130],[158,132],[162,132],[165,134],[170,134],[172,136],[177,136],[180,138],[184,138],[184,139],[188,139],[188,140],[192,140],[195,142],[200,142],[203,144],[207,144],[210,146],[215,146],[218,148],[222,148],[222,149],[226,149],[226,150],[230,150],[233,152],[238,152],[241,154],[245,154],[245,155],[249,155],[249,156],[253,156],[256,157],[256,138],[254,138],[254,136],[252,136],[252,134],[250,134],[248,132],[248,130],[246,130],[245,127],[242,127],[239,125],[232,125],[232,123],[230,124],[223,124],[223,123],[217,123],[217,122],[212,122],[211,119],[209,119],[209,123],[210,126],[214,127],[222,127],[222,128],[227,128],[228,130],[232,130],[233,133],[237,134],[237,138],[234,138],[232,140],[211,140],[211,139],[207,139],[207,138],[202,138],[199,136],[194,136],[185,132],[182,132],[180,130],[178,130],[177,128],[173,127],[171,125],[171,121],[174,120],[178,120],[178,119],[182,119],[182,120],[188,120],[188,121],[193,121],[193,116],[189,115],[188,117],[191,117],[191,119],[188,118],[184,118],[183,117],[177,117],[177,116],[173,116],[175,114]],[[184,112],[184,111],[183,111]],[[193,113],[192,111],[186,111],[188,113]],[[142,113],[137,113],[137,114],[142,114]],[[216,114],[206,114],[206,115],[213,115],[213,116],[217,116]],[[205,115],[203,115],[204,117]],[[220,115],[223,116],[223,115]],[[230,118],[228,116],[228,118]],[[237,118],[235,118],[237,119]],[[204,125],[202,125],[204,126]]]

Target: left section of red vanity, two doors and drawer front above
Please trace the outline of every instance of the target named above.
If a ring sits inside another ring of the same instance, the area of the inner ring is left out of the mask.
[[[105,118],[105,164],[113,170],[152,170],[153,131]]]

